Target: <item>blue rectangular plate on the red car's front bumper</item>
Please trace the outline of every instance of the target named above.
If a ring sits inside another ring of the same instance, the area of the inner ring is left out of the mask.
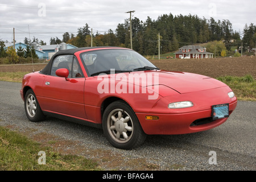
[[[220,104],[212,106],[212,119],[222,119],[229,117],[229,104]]]

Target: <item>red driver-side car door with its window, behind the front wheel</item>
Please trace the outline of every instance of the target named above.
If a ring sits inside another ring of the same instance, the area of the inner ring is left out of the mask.
[[[56,70],[67,68],[69,79],[56,76]],[[79,62],[74,55],[59,55],[52,63],[51,75],[44,79],[43,109],[51,113],[86,119],[84,84]]]

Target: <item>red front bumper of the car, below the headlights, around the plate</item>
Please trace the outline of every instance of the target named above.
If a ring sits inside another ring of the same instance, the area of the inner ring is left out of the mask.
[[[237,106],[237,100],[229,103],[229,114]],[[174,135],[205,131],[220,126],[228,118],[211,121],[212,110],[201,110],[180,114],[136,113],[144,133],[148,135]],[[146,116],[156,115],[158,120],[147,120]]]

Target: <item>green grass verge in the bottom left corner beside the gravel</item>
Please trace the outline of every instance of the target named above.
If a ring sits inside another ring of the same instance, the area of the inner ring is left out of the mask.
[[[46,164],[39,164],[39,151],[46,152]],[[93,160],[76,155],[61,155],[51,147],[0,127],[1,171],[83,171],[98,170]]]

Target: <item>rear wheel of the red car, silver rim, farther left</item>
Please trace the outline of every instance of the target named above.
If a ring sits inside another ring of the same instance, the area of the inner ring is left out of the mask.
[[[35,93],[32,89],[27,90],[24,97],[24,107],[27,118],[32,122],[39,122],[45,119],[45,116],[38,104]]]

